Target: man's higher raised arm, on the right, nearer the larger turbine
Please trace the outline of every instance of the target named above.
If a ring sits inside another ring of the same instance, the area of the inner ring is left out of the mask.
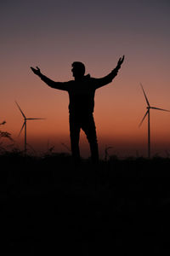
[[[98,89],[99,87],[102,87],[106,84],[110,84],[111,81],[116,77],[118,70],[121,68],[123,61],[124,61],[124,55],[122,56],[122,58],[119,59],[116,67],[111,71],[111,73],[106,75],[104,78],[94,79],[95,89]]]

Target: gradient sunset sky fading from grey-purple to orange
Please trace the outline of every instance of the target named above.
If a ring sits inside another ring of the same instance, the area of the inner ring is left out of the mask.
[[[65,151],[70,147],[68,95],[35,76],[40,67],[55,81],[71,77],[71,63],[82,61],[86,73],[99,78],[116,67],[125,55],[114,81],[96,90],[94,118],[100,157],[105,145],[110,154],[146,155],[147,120],[139,128],[146,103],[170,109],[170,2],[167,0],[2,0],[0,3],[1,94],[3,131],[23,148],[18,138],[22,116],[47,118],[30,121],[28,143],[35,149]],[[170,113],[151,111],[152,154],[170,150]],[[89,154],[81,133],[82,156]],[[40,149],[41,148],[41,149]]]

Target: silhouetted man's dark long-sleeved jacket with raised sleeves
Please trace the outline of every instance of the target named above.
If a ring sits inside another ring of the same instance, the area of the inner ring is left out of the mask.
[[[101,79],[91,78],[90,75],[83,76],[79,80],[68,82],[54,82],[44,75],[40,75],[43,82],[50,87],[66,90],[69,93],[69,112],[71,114],[88,114],[94,112],[95,90],[101,86],[111,83],[116,77],[118,70],[115,68],[111,73]]]

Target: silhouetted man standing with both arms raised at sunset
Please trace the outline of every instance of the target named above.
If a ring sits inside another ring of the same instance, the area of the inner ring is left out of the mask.
[[[66,90],[69,93],[71,152],[76,163],[80,160],[79,137],[81,129],[85,132],[88,138],[92,161],[94,163],[99,161],[98,143],[93,115],[94,94],[95,90],[99,87],[111,83],[111,81],[116,77],[118,70],[121,68],[123,61],[124,55],[117,62],[116,68],[101,79],[91,78],[89,74],[84,75],[84,64],[78,61],[73,62],[71,72],[74,80],[68,82],[54,82],[44,76],[38,67],[37,69],[31,67],[33,73],[37,74],[37,76],[39,76],[42,81],[50,87],[59,90]]]

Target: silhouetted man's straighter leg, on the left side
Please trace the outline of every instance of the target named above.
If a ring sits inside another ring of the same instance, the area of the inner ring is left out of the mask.
[[[80,149],[79,149],[79,137],[80,137],[80,124],[76,117],[71,116],[70,121],[70,137],[71,137],[71,153],[74,163],[80,162]]]

